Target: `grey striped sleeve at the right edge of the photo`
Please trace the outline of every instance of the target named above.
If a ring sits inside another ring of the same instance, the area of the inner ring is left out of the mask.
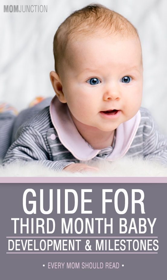
[[[157,160],[167,165],[167,137],[159,132],[150,113],[148,113],[147,122],[143,127],[143,140],[144,158]]]

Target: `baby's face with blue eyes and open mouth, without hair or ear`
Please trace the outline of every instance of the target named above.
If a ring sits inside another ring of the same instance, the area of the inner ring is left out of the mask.
[[[60,79],[73,120],[112,131],[136,114],[143,87],[136,38],[102,36],[75,41],[66,55],[69,58]]]

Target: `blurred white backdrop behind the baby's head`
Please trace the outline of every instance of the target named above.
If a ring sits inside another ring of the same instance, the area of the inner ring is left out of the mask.
[[[92,1],[93,2],[93,1]],[[97,1],[130,20],[139,31],[144,66],[143,106],[167,135],[167,2]],[[2,0],[0,4],[0,102],[18,110],[38,95],[53,96],[52,42],[59,24],[90,0]],[[48,5],[47,13],[4,13],[3,5]]]

